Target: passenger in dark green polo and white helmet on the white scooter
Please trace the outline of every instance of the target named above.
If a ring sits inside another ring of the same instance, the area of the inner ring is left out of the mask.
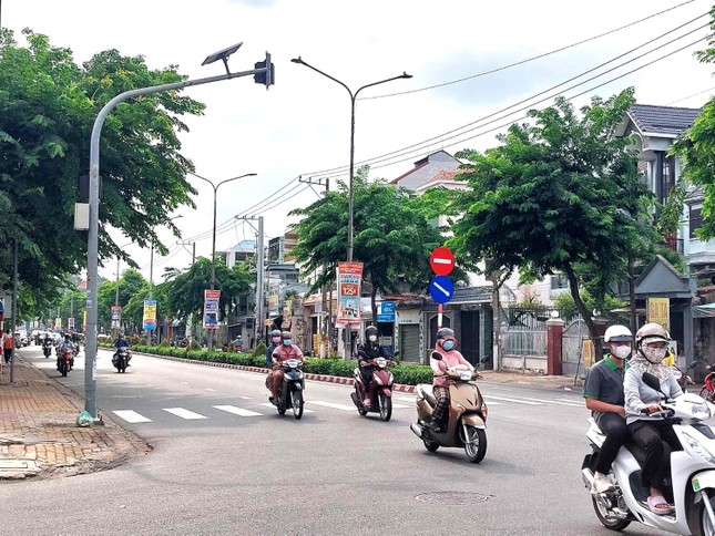
[[[605,434],[591,493],[607,493],[615,489],[606,475],[611,472],[611,464],[619,455],[621,446],[629,437],[623,406],[623,374],[625,360],[631,355],[633,333],[625,326],[611,326],[605,330],[603,341],[609,347],[609,353],[591,367],[583,384],[586,408],[591,410],[591,415]]]

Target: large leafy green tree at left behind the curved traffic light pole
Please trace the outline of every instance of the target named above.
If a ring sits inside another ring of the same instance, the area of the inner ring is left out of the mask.
[[[86,262],[86,235],[73,229],[79,177],[89,163],[89,140],[101,107],[119,93],[184,80],[175,66],[151,70],[142,56],[99,52],[82,65],[69,49],[23,31],[21,47],[0,30],[0,272],[11,274],[17,239],[20,279],[32,300],[53,301],[64,276]],[[185,179],[191,163],[180,154],[183,115],[204,105],[176,92],[120,104],[102,133],[100,258],[120,255],[111,228],[142,246],[160,244],[155,228],[176,233],[170,214],[193,206]],[[2,284],[2,281],[0,281]]]

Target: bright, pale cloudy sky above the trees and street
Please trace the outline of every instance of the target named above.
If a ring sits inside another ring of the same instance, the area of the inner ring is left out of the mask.
[[[331,188],[347,181],[349,94],[292,63],[293,58],[302,56],[353,91],[404,72],[412,75],[366,89],[356,105],[356,167],[371,159],[370,179],[392,179],[435,151],[498,145],[496,135],[520,121],[524,109],[545,107],[559,92],[581,106],[594,95],[634,86],[642,104],[702,106],[715,93],[715,65],[701,64],[693,54],[706,45],[707,28],[698,28],[707,24],[708,17],[701,16],[711,7],[705,0],[4,0],[0,22],[21,42],[24,28],[49,35],[53,45],[71,49],[78,63],[116,49],[143,55],[152,69],[176,65],[192,79],[225,72],[221,62],[201,63],[237,42],[243,45],[228,61],[233,72],[251,70],[272,54],[276,81],[268,91],[251,76],[185,91],[207,106],[204,115],[184,118],[190,132],[180,136],[181,152],[196,173],[214,183],[257,174],[218,187],[216,249],[222,250],[255,238],[251,223],[236,216],[263,216],[266,241],[284,234],[295,220],[288,213],[317,200],[324,189],[300,177],[330,177]],[[541,54],[547,55],[474,76]],[[457,80],[462,81],[449,83]],[[188,179],[198,192],[196,208],[177,209],[174,223],[183,240],[196,244],[196,255],[208,257],[213,190]],[[154,281],[164,268],[183,269],[192,261],[191,245],[176,245],[167,229],[159,234],[170,254],[154,257]],[[119,233],[112,236],[119,245],[127,241]],[[132,245],[126,250],[149,278],[150,251]],[[100,268],[108,278],[115,271],[113,260]]]

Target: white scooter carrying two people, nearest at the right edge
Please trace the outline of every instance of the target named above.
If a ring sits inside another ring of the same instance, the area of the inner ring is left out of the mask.
[[[715,411],[693,393],[684,393],[674,400],[661,391],[660,382],[653,374],[643,374],[644,383],[660,392],[664,401],[663,411],[652,416],[673,419],[673,430],[683,446],[671,454],[672,497],[675,511],[671,515],[657,515],[648,509],[648,489],[641,483],[643,451],[630,443],[622,446],[609,475],[615,492],[592,495],[593,508],[599,520],[611,530],[623,530],[631,522],[673,534],[715,536],[715,432],[703,423]],[[605,435],[593,419],[586,437],[593,452],[585,456],[581,470],[583,482],[590,489],[601,445]],[[670,489],[664,493],[670,495]]]

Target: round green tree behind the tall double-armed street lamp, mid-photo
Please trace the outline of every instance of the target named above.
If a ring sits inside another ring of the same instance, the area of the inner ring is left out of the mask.
[[[353,181],[353,257],[364,262],[362,277],[370,290],[376,319],[378,292],[397,291],[400,282],[411,289],[427,289],[432,276],[429,255],[442,245],[443,238],[440,229],[430,224],[436,216],[430,210],[436,193],[425,199],[410,198],[408,190],[382,179],[369,183],[368,172],[369,167],[361,167]],[[331,286],[337,264],[346,259],[347,185],[339,182],[337,190],[290,214],[303,216],[296,226],[298,244],[292,254],[305,271],[320,274],[309,291]]]

